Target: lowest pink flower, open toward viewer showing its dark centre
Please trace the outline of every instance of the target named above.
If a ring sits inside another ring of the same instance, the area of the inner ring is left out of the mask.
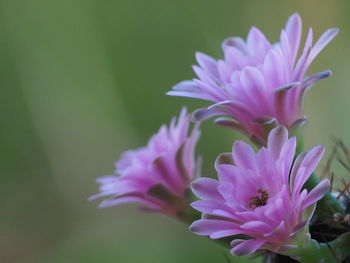
[[[231,237],[234,255],[298,246],[300,237],[308,236],[316,202],[330,183],[324,179],[310,192],[303,189],[324,147],[301,153],[293,163],[295,147],[296,138],[288,139],[282,126],[270,132],[267,148],[257,153],[237,141],[232,154],[216,161],[218,181],[200,178],[192,183],[192,191],[202,199],[192,207],[202,212],[202,219],[193,222],[190,231],[212,239]]]

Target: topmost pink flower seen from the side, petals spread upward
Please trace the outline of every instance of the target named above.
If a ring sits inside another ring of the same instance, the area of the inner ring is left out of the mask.
[[[217,118],[215,122],[238,129],[264,145],[271,127],[283,125],[290,130],[305,121],[305,91],[331,72],[309,77],[305,77],[305,73],[337,33],[338,29],[329,29],[313,44],[310,28],[297,59],[302,34],[298,14],[289,18],[280,42],[275,44],[252,27],[246,41],[232,37],[223,42],[223,59],[215,60],[196,53],[199,66],[193,66],[193,70],[197,78],[180,82],[167,94],[214,102],[208,108],[197,110],[194,119],[228,116]]]

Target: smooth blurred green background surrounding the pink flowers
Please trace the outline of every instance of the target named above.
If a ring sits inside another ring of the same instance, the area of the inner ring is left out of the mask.
[[[331,145],[330,135],[350,144],[349,8],[345,0],[1,0],[0,262],[227,262],[225,250],[172,219],[136,206],[97,209],[86,202],[94,180],[182,105],[208,105],[164,95],[194,76],[196,50],[221,57],[221,41],[252,25],[277,41],[295,11],[316,36],[341,30],[311,68],[334,75],[307,96],[307,145]],[[204,175],[238,137],[203,125]]]

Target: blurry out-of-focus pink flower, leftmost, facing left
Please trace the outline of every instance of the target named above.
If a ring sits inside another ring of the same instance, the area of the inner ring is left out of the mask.
[[[198,125],[189,134],[190,115],[182,109],[178,120],[163,125],[146,147],[123,153],[116,162],[117,175],[98,178],[100,193],[110,197],[100,207],[139,203],[144,208],[181,218],[185,193],[196,173],[194,150]]]

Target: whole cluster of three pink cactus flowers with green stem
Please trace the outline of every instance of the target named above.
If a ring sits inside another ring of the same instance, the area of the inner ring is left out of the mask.
[[[179,83],[168,95],[214,104],[192,116],[183,109],[146,147],[125,152],[116,163],[116,175],[97,179],[100,193],[90,200],[108,197],[101,207],[141,204],[190,224],[195,234],[220,239],[236,256],[269,251],[268,255],[311,263],[340,262],[348,256],[350,233],[341,233],[331,243],[312,239],[311,219],[329,224],[335,214],[349,214],[329,193],[330,181],[314,174],[324,147],[301,152],[302,140],[292,136],[306,120],[305,92],[331,74],[305,77],[306,71],[338,30],[327,30],[313,44],[309,29],[298,57],[301,27],[299,15],[293,14],[279,43],[271,44],[253,27],[246,41],[224,41],[222,60],[197,53],[199,66],[193,69],[198,78]],[[219,155],[215,162],[218,179],[196,179],[200,121],[219,115],[226,117],[217,118],[217,124],[240,130],[260,148],[254,151],[248,143],[236,141],[232,153]],[[190,132],[191,119],[196,124]],[[199,200],[192,203],[195,196]]]

